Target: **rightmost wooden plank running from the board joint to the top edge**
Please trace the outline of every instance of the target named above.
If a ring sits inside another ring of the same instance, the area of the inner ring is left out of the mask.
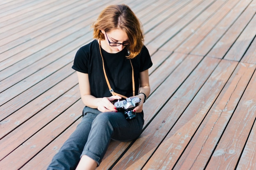
[[[229,27],[238,19],[238,17],[249,6],[252,0],[243,0],[238,2],[236,6],[223,18],[220,23],[215,25],[215,28],[191,51],[191,54],[205,56],[229,29]],[[250,13],[253,15],[253,13]],[[243,20],[241,24],[247,24],[247,20]]]

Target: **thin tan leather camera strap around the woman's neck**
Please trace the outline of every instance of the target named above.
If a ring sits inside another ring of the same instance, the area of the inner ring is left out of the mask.
[[[99,52],[101,53],[101,44],[100,44],[100,42],[99,42]],[[115,93],[114,90],[111,88],[110,83],[109,83],[109,81],[108,81],[107,74],[106,74],[105,64],[104,64],[104,60],[103,60],[102,53],[101,53],[101,59],[102,59],[102,66],[103,66],[104,76],[105,76],[106,82],[107,82],[107,84],[108,84],[108,89],[109,89],[110,93],[111,93],[113,96],[118,95],[118,96],[120,96],[120,97],[123,97],[124,99],[128,98],[128,97],[126,97],[126,96],[124,96],[124,95],[120,95],[120,94],[118,94],[118,93]],[[129,59],[129,60],[130,60],[130,59]],[[132,61],[131,61],[131,60],[130,60],[130,64],[131,64],[131,66],[132,66]],[[133,94],[133,96],[135,96],[135,81],[134,81],[133,66],[132,66],[132,94]]]

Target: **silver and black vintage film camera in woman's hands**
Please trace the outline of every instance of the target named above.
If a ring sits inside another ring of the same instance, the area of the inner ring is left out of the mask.
[[[136,113],[133,112],[133,109],[139,104],[140,98],[138,97],[129,97],[125,100],[117,101],[114,103],[118,111],[124,111],[124,117],[126,120],[135,119]]]

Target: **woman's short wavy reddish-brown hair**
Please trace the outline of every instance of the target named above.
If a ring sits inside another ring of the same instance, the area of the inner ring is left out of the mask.
[[[99,40],[105,40],[104,34],[112,29],[122,29],[126,32],[130,51],[128,58],[134,58],[142,49],[144,36],[143,28],[135,13],[125,4],[110,5],[106,7],[99,15],[98,19],[92,24],[94,29],[93,36]]]

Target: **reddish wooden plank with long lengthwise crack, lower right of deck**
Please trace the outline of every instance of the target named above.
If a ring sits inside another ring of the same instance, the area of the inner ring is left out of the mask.
[[[251,64],[238,64],[173,170],[204,169],[234,113],[255,67]],[[244,170],[249,169],[245,168]]]

